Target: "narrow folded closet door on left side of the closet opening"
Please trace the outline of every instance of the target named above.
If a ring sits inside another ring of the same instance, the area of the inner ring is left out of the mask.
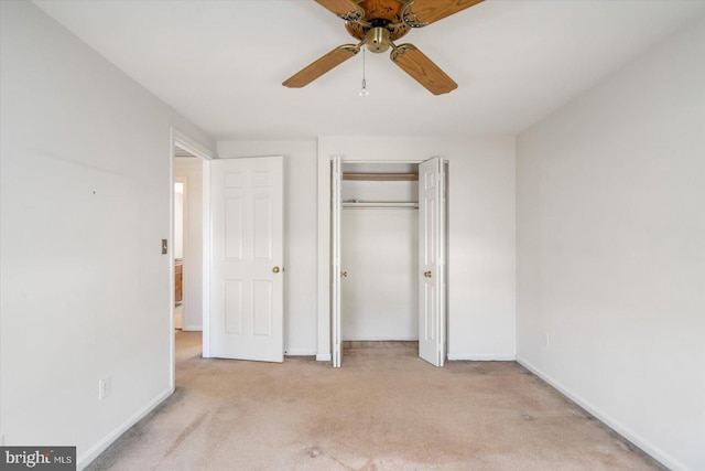
[[[343,339],[340,329],[340,253],[343,245],[343,232],[340,229],[340,216],[343,213],[343,172],[340,158],[334,157],[330,161],[330,343],[333,350],[333,367],[339,368],[343,363]]]

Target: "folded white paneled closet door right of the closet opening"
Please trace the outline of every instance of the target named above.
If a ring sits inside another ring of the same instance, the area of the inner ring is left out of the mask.
[[[445,362],[445,175],[443,161],[419,164],[419,356]]]

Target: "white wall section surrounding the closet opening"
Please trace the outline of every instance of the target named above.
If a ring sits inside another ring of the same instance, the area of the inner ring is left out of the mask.
[[[318,353],[330,357],[332,156],[345,160],[449,161],[448,358],[514,358],[514,140],[344,138],[318,140]]]

